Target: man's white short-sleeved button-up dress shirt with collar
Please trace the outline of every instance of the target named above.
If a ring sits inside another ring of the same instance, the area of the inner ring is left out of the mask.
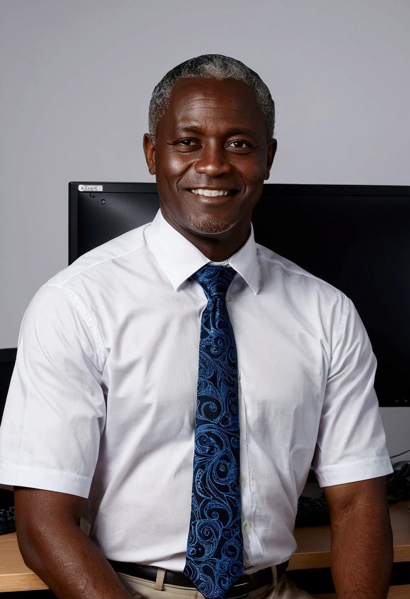
[[[0,431],[0,483],[88,498],[82,528],[116,561],[182,571],[209,262],[159,211],[32,299]],[[255,244],[230,259],[246,572],[288,559],[297,498],[392,471],[376,359],[352,302]]]

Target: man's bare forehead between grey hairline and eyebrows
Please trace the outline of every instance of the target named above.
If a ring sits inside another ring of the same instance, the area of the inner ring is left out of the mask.
[[[252,129],[266,136],[266,124],[254,90],[234,79],[177,81],[159,129],[176,130],[191,123],[196,128]]]

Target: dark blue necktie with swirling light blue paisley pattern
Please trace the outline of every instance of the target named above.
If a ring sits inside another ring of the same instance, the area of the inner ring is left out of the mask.
[[[236,272],[206,265],[193,275],[201,320],[194,479],[184,574],[207,599],[225,599],[243,573],[238,364],[225,297]]]

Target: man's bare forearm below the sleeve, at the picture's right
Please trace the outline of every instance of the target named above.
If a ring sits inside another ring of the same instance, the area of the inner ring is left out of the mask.
[[[324,492],[337,597],[385,599],[393,565],[385,476],[328,486]]]

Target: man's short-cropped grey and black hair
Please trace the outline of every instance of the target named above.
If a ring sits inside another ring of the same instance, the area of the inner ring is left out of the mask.
[[[202,79],[236,79],[243,81],[255,92],[258,105],[261,109],[264,122],[267,128],[267,140],[273,139],[275,128],[275,102],[267,85],[261,80],[260,76],[252,71],[249,66],[221,54],[204,54],[197,56],[180,65],[174,66],[168,71],[161,81],[155,86],[151,101],[149,103],[148,127],[152,143],[156,145],[156,129],[159,119],[165,113],[169,103],[171,92],[175,84],[181,77],[197,77]]]

